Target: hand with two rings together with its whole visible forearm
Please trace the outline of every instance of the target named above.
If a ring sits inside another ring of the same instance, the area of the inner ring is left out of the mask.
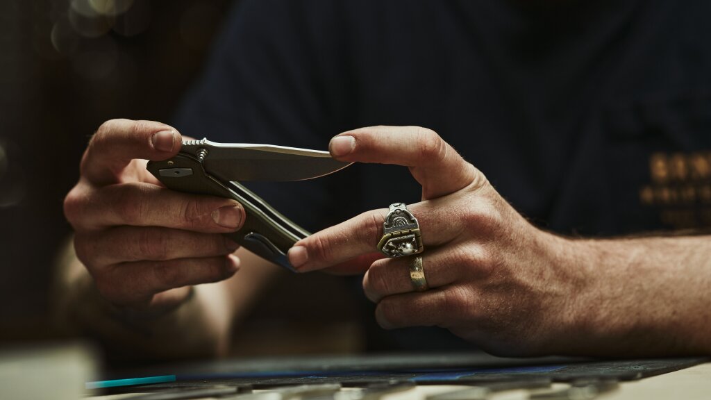
[[[711,352],[708,238],[584,241],[546,233],[424,128],[344,132],[330,149],[343,161],[409,167],[422,184],[422,201],[408,208],[422,231],[429,290],[413,288],[413,256],[377,251],[387,209],[289,250],[300,271],[365,271],[363,289],[378,303],[381,326],[437,325],[502,355]]]

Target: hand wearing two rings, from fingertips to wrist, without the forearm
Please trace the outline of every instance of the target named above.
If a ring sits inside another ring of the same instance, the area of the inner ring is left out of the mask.
[[[387,209],[296,243],[289,259],[299,270],[367,270],[365,295],[387,329],[437,325],[498,354],[552,352],[550,337],[569,329],[572,295],[586,285],[587,271],[558,266],[562,239],[531,226],[431,130],[370,127],[336,136],[330,148],[343,161],[410,167],[422,184],[422,202],[408,208],[422,231],[429,290],[413,289],[414,257],[374,253]]]

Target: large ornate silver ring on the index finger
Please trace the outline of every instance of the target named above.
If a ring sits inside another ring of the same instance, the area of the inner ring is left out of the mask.
[[[424,250],[419,223],[405,203],[390,204],[378,250],[390,258],[412,256]]]

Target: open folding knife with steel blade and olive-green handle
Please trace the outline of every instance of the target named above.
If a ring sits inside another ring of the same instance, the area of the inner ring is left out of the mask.
[[[148,170],[169,189],[235,199],[247,214],[239,231],[225,233],[258,256],[295,271],[287,251],[309,232],[289,221],[237,181],[299,181],[348,167],[328,152],[272,146],[183,141],[171,159],[149,162]]]

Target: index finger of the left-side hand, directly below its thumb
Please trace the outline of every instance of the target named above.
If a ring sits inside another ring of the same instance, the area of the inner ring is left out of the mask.
[[[186,194],[141,182],[90,191],[77,187],[65,199],[65,215],[75,228],[164,226],[226,233],[239,230],[245,220],[242,206],[222,197]]]

